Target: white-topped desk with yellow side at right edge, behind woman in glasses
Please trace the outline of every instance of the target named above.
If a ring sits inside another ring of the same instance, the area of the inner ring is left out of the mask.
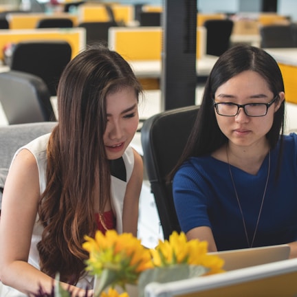
[[[297,47],[266,49],[277,61],[285,83],[287,102],[297,103]]]

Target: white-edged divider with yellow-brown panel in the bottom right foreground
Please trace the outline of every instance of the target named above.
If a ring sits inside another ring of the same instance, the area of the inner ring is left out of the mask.
[[[151,283],[145,297],[296,297],[297,259],[171,283]]]

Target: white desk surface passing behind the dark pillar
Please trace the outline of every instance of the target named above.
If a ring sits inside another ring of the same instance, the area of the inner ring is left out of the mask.
[[[208,76],[218,58],[217,56],[206,55],[197,59],[197,76]],[[138,78],[159,78],[161,76],[162,61],[130,61],[129,63]]]

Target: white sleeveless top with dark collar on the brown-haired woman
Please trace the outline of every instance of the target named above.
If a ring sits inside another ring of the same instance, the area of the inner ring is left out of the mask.
[[[14,155],[15,157],[23,148],[27,148],[34,155],[39,170],[39,185],[41,194],[44,192],[46,186],[47,143],[49,141],[49,137],[50,133],[36,138],[29,144],[26,144],[25,146],[19,148],[19,150]],[[124,173],[115,173],[116,176],[114,176],[112,170],[113,166],[111,166],[111,208],[116,218],[115,229],[118,233],[122,233],[122,210],[124,205],[124,195],[126,192],[126,184],[129,182],[134,166],[134,155],[131,146],[128,146],[126,148],[124,155],[122,155],[122,158],[119,159],[119,161],[123,161],[122,164],[124,165]],[[117,164],[115,164],[114,166],[117,166]],[[32,234],[28,263],[30,263],[37,269],[40,269],[37,243],[41,241],[43,226],[38,222],[38,220],[39,217],[37,215]],[[88,285],[89,287],[93,287],[93,276],[86,275],[83,278],[81,278],[77,284],[78,287],[86,287],[86,285]],[[13,289],[12,287],[5,286],[0,282],[0,296],[25,297],[27,295],[22,294],[21,292],[17,291],[16,289]]]

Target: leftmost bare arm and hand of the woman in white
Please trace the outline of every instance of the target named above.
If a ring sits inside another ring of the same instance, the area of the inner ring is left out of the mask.
[[[39,197],[36,160],[24,149],[14,159],[5,181],[0,223],[1,282],[24,294],[37,292],[40,286],[51,292],[54,284],[53,278],[28,263]],[[77,296],[85,296],[85,290],[71,288]]]

